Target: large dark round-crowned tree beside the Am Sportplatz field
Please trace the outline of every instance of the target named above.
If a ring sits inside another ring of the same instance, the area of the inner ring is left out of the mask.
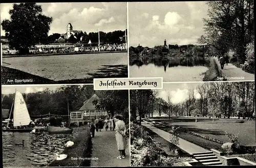
[[[36,43],[47,43],[52,17],[42,14],[42,8],[36,3],[13,4],[9,11],[10,20],[1,23],[7,32],[9,46],[19,54],[29,53],[29,47]]]

